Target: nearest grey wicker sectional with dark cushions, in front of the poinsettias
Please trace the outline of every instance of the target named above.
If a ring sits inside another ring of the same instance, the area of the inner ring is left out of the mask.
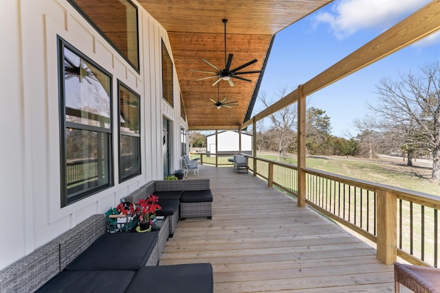
[[[210,263],[157,266],[168,222],[159,232],[113,234],[106,222],[91,215],[1,270],[0,293],[213,292]]]

